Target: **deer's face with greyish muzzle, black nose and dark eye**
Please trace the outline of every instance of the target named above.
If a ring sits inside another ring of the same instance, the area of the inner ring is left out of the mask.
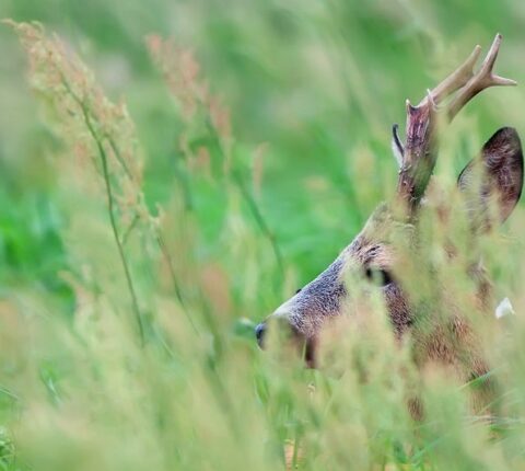
[[[411,315],[394,274],[398,256],[393,239],[401,233],[410,237],[411,232],[410,225],[395,221],[388,207],[381,205],[328,268],[281,305],[270,320],[277,319],[312,348],[326,322],[349,310],[352,286],[357,284],[364,290],[382,291],[394,329],[404,332]],[[266,323],[260,324],[259,345],[264,343],[265,331]]]

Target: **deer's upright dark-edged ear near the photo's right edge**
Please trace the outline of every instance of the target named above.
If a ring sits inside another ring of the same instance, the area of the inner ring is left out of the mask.
[[[503,222],[522,195],[523,153],[516,130],[497,130],[459,174],[457,186],[465,195],[475,230],[489,230],[491,222]]]

